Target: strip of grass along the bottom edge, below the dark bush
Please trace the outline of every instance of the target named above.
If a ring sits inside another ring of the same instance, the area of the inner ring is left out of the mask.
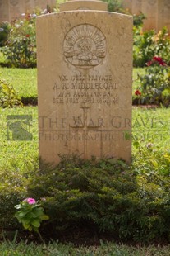
[[[124,244],[113,244],[102,241],[99,246],[80,246],[72,244],[60,244],[51,242],[50,244],[0,244],[0,254],[2,256],[168,256],[170,246],[149,246],[133,247]]]

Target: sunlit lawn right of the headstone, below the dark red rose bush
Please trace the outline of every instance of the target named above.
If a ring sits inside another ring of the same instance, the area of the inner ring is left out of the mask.
[[[168,148],[170,143],[169,125],[169,108],[133,107],[133,140],[138,140],[141,145],[153,143],[160,148]]]

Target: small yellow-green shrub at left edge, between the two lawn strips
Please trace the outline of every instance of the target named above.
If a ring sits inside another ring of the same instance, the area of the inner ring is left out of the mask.
[[[22,106],[16,90],[5,79],[0,79],[0,107]]]

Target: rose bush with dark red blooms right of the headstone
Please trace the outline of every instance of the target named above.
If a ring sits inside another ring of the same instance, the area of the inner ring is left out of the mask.
[[[138,103],[170,104],[170,67],[162,58],[154,56],[147,62],[145,75],[138,74],[138,80],[140,87],[135,92]]]

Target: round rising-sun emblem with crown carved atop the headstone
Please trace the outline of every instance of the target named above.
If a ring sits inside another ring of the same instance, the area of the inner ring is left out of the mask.
[[[82,24],[68,31],[63,42],[67,62],[80,69],[91,69],[106,56],[106,38],[96,26]]]

